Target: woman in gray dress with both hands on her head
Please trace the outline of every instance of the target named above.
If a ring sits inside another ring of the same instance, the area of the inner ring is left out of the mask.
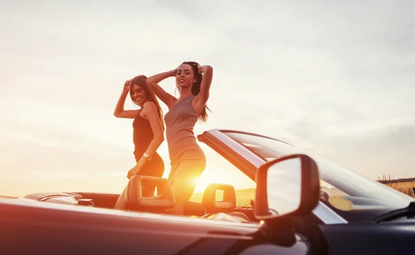
[[[183,62],[174,70],[147,78],[151,91],[169,108],[165,115],[171,164],[169,182],[176,205],[166,210],[166,214],[183,215],[184,205],[196,187],[196,179],[206,167],[205,153],[196,142],[193,129],[198,120],[205,122],[208,119],[206,102],[209,98],[212,75],[211,66]],[[176,86],[180,92],[178,98],[158,86],[158,82],[168,77],[176,77]]]

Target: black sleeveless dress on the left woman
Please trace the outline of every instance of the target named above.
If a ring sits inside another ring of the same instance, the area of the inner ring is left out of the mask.
[[[142,154],[145,153],[153,138],[154,133],[151,130],[149,120],[141,117],[140,113],[138,113],[133,121],[134,156],[136,157],[136,162],[138,162],[138,160],[142,157]],[[140,169],[138,174],[140,176],[161,177],[163,176],[164,170],[165,164],[163,159],[156,152],[153,156],[151,156],[151,160],[144,164],[144,167]]]

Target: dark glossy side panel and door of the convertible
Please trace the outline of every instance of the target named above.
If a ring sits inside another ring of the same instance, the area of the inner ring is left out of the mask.
[[[254,224],[2,199],[0,215],[1,254],[309,254]]]

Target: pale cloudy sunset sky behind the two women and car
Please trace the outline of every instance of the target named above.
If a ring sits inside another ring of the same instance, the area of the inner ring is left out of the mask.
[[[196,135],[260,133],[372,180],[415,177],[414,1],[0,5],[2,195],[121,192],[135,163],[132,121],[113,116],[124,81],[184,61],[214,68]],[[160,85],[174,95],[174,79]],[[252,185],[202,148],[201,182]]]

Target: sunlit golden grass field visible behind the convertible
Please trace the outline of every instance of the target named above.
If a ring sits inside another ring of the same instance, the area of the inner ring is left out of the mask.
[[[389,187],[396,189],[402,193],[407,194],[408,196],[412,196],[415,198],[414,191],[412,190],[415,187],[415,181],[413,182],[394,182],[388,185]],[[240,207],[250,207],[250,200],[255,199],[255,189],[237,189],[237,206]],[[190,201],[194,202],[202,202],[203,193],[193,193]],[[216,194],[216,199],[221,199],[221,194]]]

